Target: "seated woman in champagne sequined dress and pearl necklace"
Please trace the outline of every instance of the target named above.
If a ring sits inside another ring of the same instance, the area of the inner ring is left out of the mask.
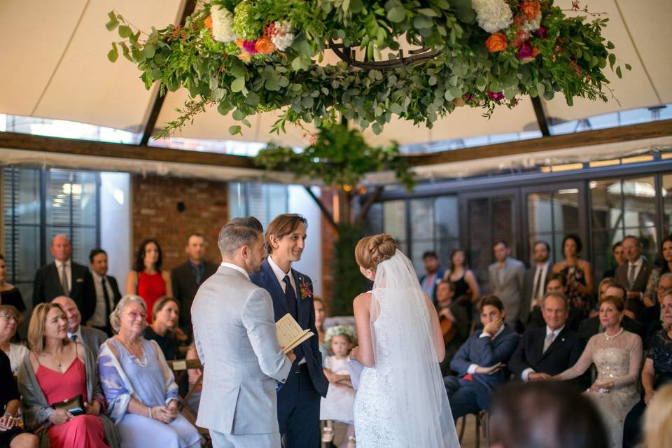
[[[573,367],[552,377],[574,379],[595,364],[597,378],[587,395],[604,419],[612,447],[622,446],[625,416],[639,400],[637,379],[642,361],[642,339],[622,328],[623,310],[620,297],[604,297],[600,304],[600,322],[605,332],[590,338]]]

